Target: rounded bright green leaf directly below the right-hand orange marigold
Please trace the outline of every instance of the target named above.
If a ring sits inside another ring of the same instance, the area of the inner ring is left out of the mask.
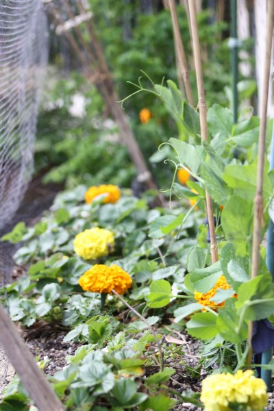
[[[186,323],[188,333],[192,337],[201,338],[201,340],[210,340],[219,334],[216,327],[217,316],[212,312],[199,312],[194,314],[192,319]]]

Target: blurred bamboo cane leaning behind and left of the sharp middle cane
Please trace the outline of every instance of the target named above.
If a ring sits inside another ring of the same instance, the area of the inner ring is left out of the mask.
[[[178,56],[179,71],[184,80],[184,87],[186,89],[186,97],[188,99],[188,103],[192,105],[192,107],[194,107],[194,99],[193,99],[192,90],[190,86],[190,79],[188,75],[188,63],[186,61],[186,53],[184,51],[184,44],[182,42],[182,37],[181,37],[180,30],[179,30],[179,22],[177,18],[177,12],[176,12],[174,0],[169,0],[169,9],[171,10],[173,36],[174,36],[174,42],[175,42],[175,50],[177,51],[177,56]]]

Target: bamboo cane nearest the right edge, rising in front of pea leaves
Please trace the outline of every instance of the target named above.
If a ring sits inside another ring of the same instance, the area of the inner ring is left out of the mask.
[[[251,278],[258,275],[260,263],[260,243],[261,243],[261,229],[263,219],[263,175],[264,175],[264,155],[265,155],[265,140],[266,140],[266,121],[267,121],[267,102],[269,97],[269,75],[271,69],[271,51],[272,51],[272,37],[274,25],[274,3],[273,0],[267,2],[266,12],[266,49],[264,58],[264,77],[262,87],[262,105],[260,110],[260,129],[258,142],[258,166],[257,166],[257,187],[256,195],[254,197],[254,218],[253,218],[253,243],[252,243],[252,267]],[[252,347],[251,338],[253,334],[253,324],[249,322],[249,354],[247,362],[251,363]]]

